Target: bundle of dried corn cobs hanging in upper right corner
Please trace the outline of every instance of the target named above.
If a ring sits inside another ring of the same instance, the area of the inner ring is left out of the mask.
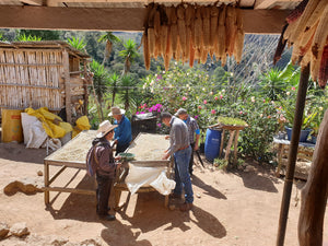
[[[276,63],[285,45],[293,46],[292,63],[311,66],[311,77],[320,87],[328,80],[328,1],[303,0],[286,17],[278,43]]]

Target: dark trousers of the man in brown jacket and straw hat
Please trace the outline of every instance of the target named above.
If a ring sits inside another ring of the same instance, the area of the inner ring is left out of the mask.
[[[96,190],[97,214],[106,215],[113,178],[96,174],[96,179],[97,179],[97,190]]]

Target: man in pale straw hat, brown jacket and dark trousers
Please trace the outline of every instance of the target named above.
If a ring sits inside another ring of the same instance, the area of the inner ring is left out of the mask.
[[[108,211],[110,210],[108,200],[116,168],[120,166],[120,163],[115,162],[120,157],[113,156],[113,149],[109,144],[109,141],[114,137],[115,128],[117,128],[117,126],[112,125],[108,120],[101,122],[96,138],[92,142],[93,148],[90,149],[86,155],[86,160],[90,160],[90,165],[96,174],[96,212],[102,220],[107,221],[115,220],[115,215],[108,214]]]

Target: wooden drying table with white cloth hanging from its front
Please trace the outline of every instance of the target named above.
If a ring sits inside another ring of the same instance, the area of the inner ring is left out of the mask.
[[[125,162],[120,172],[117,174],[117,179],[114,184],[115,190],[115,208],[119,209],[119,200],[121,191],[129,191],[126,185],[126,177],[129,172],[129,165],[138,165],[143,167],[166,167],[166,176],[172,173],[173,163],[171,160],[163,161],[164,151],[169,147],[169,141],[165,140],[164,134],[155,133],[139,133],[126,153],[136,155],[133,161]],[[151,186],[142,186],[137,192],[155,191]],[[165,196],[165,207],[168,204],[168,196]]]

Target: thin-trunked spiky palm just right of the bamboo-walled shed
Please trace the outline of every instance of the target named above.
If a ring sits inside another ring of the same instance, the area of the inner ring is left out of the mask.
[[[103,65],[99,65],[97,61],[93,60],[91,62],[91,71],[94,73],[93,75],[93,91],[94,96],[97,103],[98,112],[101,113],[99,118],[101,121],[104,119],[103,114],[103,97],[107,92],[108,85],[108,74]]]

